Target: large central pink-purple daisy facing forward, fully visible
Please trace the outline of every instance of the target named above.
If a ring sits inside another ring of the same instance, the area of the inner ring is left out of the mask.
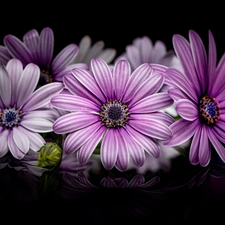
[[[131,73],[127,60],[114,67],[100,58],[91,60],[91,69],[74,69],[63,82],[71,94],[59,94],[51,99],[55,108],[71,113],[58,118],[53,130],[68,134],[63,150],[77,151],[85,164],[98,144],[101,161],[106,169],[114,166],[127,169],[132,159],[143,165],[145,151],[159,157],[158,141],[172,137],[168,114],[158,112],[173,104],[169,94],[158,93],[164,76],[146,63]]]

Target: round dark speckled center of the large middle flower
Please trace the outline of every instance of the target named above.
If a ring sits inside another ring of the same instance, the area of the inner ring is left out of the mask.
[[[123,127],[129,120],[128,107],[123,102],[110,100],[102,105],[100,117],[106,127]]]

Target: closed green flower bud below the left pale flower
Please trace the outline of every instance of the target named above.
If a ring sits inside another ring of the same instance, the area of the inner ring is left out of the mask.
[[[54,167],[61,161],[62,149],[56,143],[47,142],[38,152],[38,167]]]

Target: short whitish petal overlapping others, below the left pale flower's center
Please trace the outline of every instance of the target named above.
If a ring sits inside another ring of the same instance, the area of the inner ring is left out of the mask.
[[[12,137],[18,149],[20,149],[21,152],[26,154],[30,148],[30,141],[28,137],[23,132],[21,132],[20,127],[21,126],[18,126],[17,128],[15,127],[13,128]]]

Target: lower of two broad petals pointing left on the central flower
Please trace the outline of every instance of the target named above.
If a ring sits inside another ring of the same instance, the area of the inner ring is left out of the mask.
[[[72,112],[58,118],[53,130],[57,134],[70,133],[99,121],[99,116],[89,112]]]

